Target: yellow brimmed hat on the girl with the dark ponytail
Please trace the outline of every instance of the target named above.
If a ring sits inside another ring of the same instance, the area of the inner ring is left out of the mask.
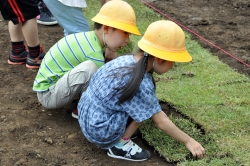
[[[185,34],[174,22],[161,20],[151,23],[138,47],[150,55],[173,62],[189,62]]]

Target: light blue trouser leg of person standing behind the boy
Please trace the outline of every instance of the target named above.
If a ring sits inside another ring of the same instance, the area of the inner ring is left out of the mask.
[[[81,8],[66,6],[57,0],[44,0],[44,3],[57,22],[64,28],[64,36],[90,30]]]

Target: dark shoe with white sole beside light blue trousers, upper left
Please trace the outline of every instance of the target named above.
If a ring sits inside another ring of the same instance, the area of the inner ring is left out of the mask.
[[[37,23],[42,24],[42,25],[55,25],[55,24],[57,24],[55,17],[49,11],[49,9],[44,4],[44,2],[42,2],[42,1],[39,2],[38,8],[40,10],[40,15],[38,15],[36,17]]]

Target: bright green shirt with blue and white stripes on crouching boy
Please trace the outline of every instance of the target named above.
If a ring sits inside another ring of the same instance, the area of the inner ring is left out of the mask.
[[[94,31],[68,35],[45,55],[33,84],[36,92],[47,91],[66,72],[81,62],[92,60],[97,68],[104,64],[102,47]]]

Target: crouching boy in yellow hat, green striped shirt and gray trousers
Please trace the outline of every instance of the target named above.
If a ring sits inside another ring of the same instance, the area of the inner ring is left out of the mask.
[[[104,47],[116,52],[126,46],[130,34],[140,35],[134,10],[125,1],[105,3],[92,21],[94,31],[68,35],[45,55],[33,84],[44,107],[57,109],[71,103],[86,90],[105,59],[115,58],[104,57]]]

